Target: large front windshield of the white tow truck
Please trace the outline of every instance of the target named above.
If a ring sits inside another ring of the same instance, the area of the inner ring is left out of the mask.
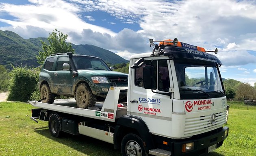
[[[225,96],[216,64],[175,62],[180,98],[207,99]]]

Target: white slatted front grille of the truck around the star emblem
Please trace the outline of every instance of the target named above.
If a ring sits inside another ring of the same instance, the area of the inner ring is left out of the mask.
[[[184,134],[193,134],[202,130],[207,130],[214,127],[219,127],[226,122],[226,111],[215,113],[216,120],[214,124],[210,123],[210,115],[204,115],[201,117],[188,117],[185,121]]]

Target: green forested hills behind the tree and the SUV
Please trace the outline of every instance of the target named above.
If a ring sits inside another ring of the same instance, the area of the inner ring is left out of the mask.
[[[47,41],[47,38],[38,37],[23,39],[15,32],[0,30],[0,65],[11,69],[11,65],[28,65],[37,67],[36,55],[41,51],[40,40]],[[94,45],[74,45],[76,54],[84,54],[102,58],[106,63],[128,63],[127,60],[117,54]]]

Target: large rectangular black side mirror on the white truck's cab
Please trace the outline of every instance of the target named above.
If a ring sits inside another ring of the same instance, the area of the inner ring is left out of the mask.
[[[143,86],[145,89],[152,89],[152,68],[151,65],[143,67]]]

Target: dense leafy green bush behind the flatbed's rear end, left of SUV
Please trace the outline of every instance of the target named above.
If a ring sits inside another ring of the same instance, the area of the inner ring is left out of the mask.
[[[37,85],[39,68],[13,67],[9,76],[9,94],[7,100],[27,102]]]

